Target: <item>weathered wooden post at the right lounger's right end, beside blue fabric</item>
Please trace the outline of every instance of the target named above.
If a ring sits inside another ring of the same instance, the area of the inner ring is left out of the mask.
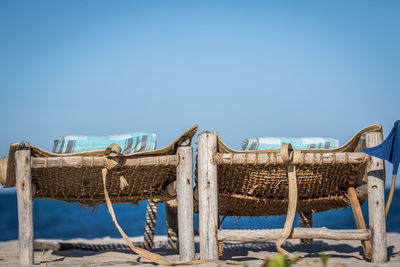
[[[366,147],[382,143],[382,133],[365,134]],[[368,173],[368,215],[369,228],[372,233],[372,262],[387,262],[386,218],[385,218],[385,163],[382,159],[372,157],[367,166]]]

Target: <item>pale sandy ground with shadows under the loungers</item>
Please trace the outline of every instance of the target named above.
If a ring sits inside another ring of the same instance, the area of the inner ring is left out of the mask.
[[[287,241],[284,248],[297,257],[304,258],[306,264],[294,266],[322,266],[319,253],[331,255],[328,266],[400,266],[400,233],[388,233],[389,262],[374,264],[364,260],[359,241],[314,240],[312,244],[300,244],[299,240]],[[142,238],[134,237],[135,245]],[[48,250],[43,250],[46,244]],[[134,254],[122,239],[73,239],[35,240],[35,266],[155,266],[156,264]],[[156,236],[155,248],[151,251],[165,256],[170,261],[178,261],[176,250],[168,250],[165,236]],[[97,251],[88,250],[95,249]],[[196,242],[196,252],[199,250]],[[242,266],[260,266],[266,257],[276,253],[275,243],[225,243],[221,260],[237,261]],[[198,253],[196,253],[198,257]],[[18,241],[0,242],[0,266],[18,265]],[[203,264],[201,266],[232,266],[224,263]]]

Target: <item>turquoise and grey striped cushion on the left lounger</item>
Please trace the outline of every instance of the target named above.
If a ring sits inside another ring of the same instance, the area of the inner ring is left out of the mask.
[[[106,149],[115,143],[123,154],[153,150],[156,146],[156,134],[131,133],[109,136],[70,135],[54,140],[53,153],[67,154],[89,150]]]

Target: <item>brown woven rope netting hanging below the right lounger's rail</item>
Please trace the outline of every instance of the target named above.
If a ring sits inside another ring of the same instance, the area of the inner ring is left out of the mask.
[[[364,164],[296,167],[297,212],[338,209],[350,204],[346,190],[362,184]],[[288,178],[285,166],[218,165],[218,213],[228,216],[286,214]]]

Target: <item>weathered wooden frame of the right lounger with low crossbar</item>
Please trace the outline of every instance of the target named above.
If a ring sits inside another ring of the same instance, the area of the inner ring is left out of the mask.
[[[364,147],[376,146],[383,140],[381,126],[375,126],[371,128],[374,130],[360,131],[357,137],[358,144],[353,149],[354,152],[336,153],[335,161],[344,160],[345,157],[349,163],[364,160],[367,156],[359,151]],[[198,136],[197,180],[201,259],[218,259],[218,247],[222,241],[277,240],[282,233],[282,229],[223,230],[219,228],[220,207],[218,206],[218,196],[220,189],[218,188],[218,179],[220,178],[217,172],[219,164],[267,164],[268,157],[270,157],[267,153],[258,153],[255,155],[250,151],[234,151],[235,153],[221,152],[221,144],[219,142],[220,139],[216,132],[203,132]],[[315,160],[315,153],[307,153],[307,151],[301,151],[301,153],[301,157],[306,159],[305,164],[307,164],[307,159],[309,159],[309,163],[312,162],[313,158]],[[279,155],[279,153],[276,155],[275,159],[279,164],[282,161],[282,155]],[[329,161],[332,162],[333,160],[332,153],[329,151],[318,153],[317,156],[323,157],[324,164],[329,164]],[[217,163],[217,158],[219,159],[219,163]],[[362,241],[364,254],[367,259],[370,259],[374,263],[386,262],[388,259],[384,201],[384,167],[383,160],[371,157],[368,160],[365,170],[365,175],[367,176],[369,229],[367,229],[364,222],[356,188],[350,186],[347,191],[347,197],[350,200],[358,229],[332,230],[327,228],[300,227],[294,228],[288,238],[360,240]],[[310,213],[305,215],[310,218]],[[240,216],[240,214],[236,216]],[[304,224],[302,223],[302,226]]]

